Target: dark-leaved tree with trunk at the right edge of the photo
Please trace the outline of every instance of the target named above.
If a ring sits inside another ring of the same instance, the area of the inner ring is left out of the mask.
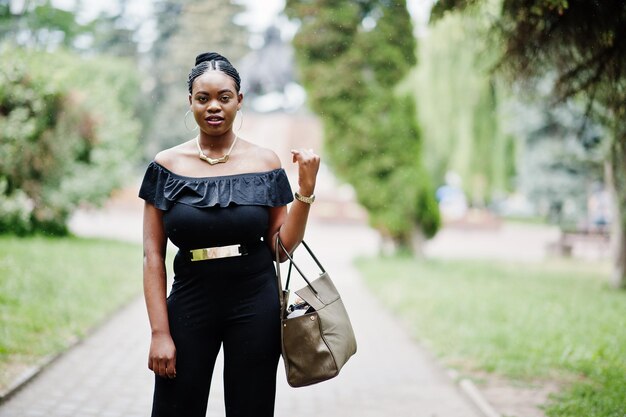
[[[478,3],[442,0],[433,17]],[[583,97],[585,119],[601,122],[610,132],[606,163],[616,202],[613,283],[626,288],[626,4],[504,0],[493,26],[502,39],[499,68],[505,75],[530,85],[553,75],[554,96],[561,101]]]

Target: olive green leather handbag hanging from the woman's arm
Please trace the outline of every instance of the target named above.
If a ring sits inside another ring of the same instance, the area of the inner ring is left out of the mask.
[[[309,246],[305,242],[302,245],[321,270],[319,277],[313,281],[307,279],[280,239],[276,239],[282,356],[287,382],[292,387],[312,385],[337,376],[343,365],[356,353],[354,331],[341,297]],[[284,290],[279,248],[289,259],[289,274]],[[287,306],[292,266],[307,285],[295,292],[300,301]]]

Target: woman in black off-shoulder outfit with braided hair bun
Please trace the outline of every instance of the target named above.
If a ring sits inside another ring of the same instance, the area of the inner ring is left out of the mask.
[[[204,53],[189,74],[192,140],[156,155],[139,196],[144,206],[144,294],[152,329],[153,416],[204,417],[224,347],[226,416],[272,416],[280,356],[273,264],[276,236],[293,250],[304,236],[319,157],[293,150],[293,196],[276,154],[233,132],[239,74]],[[179,250],[166,298],[165,248]]]

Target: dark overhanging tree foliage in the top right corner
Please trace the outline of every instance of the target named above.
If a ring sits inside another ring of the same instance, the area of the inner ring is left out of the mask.
[[[557,71],[561,98],[585,92],[608,107],[626,101],[626,6],[622,0],[504,1],[506,65],[515,76]],[[563,42],[566,40],[566,42]]]

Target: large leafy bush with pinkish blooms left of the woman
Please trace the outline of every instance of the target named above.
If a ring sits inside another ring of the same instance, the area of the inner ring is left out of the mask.
[[[66,233],[77,205],[102,203],[128,178],[139,128],[134,70],[10,45],[0,59],[0,232]]]

